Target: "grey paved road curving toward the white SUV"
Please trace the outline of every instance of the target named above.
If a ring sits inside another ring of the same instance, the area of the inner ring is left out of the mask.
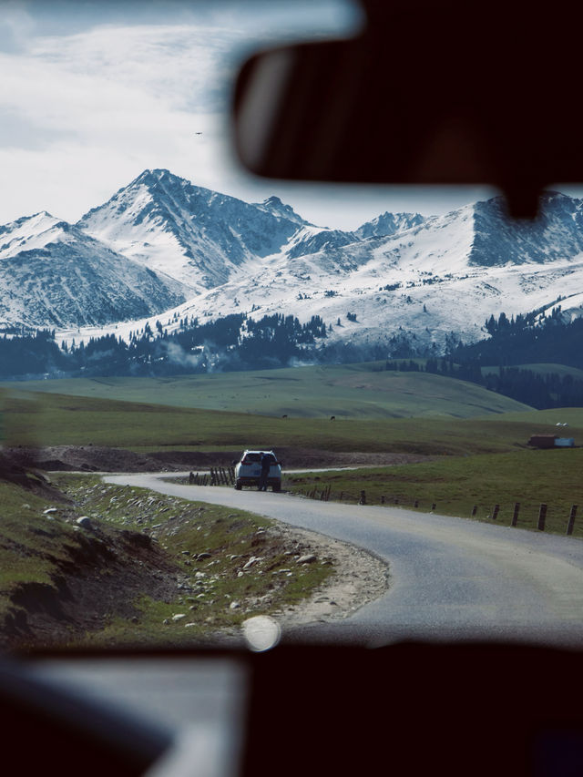
[[[389,563],[391,587],[383,597],[340,626],[301,629],[300,639],[370,645],[415,638],[527,639],[583,647],[581,540],[400,508],[183,486],[160,475],[106,480],[271,516],[346,540]]]

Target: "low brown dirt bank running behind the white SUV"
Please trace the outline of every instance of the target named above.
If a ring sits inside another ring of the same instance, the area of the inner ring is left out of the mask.
[[[325,466],[382,466],[413,464],[428,457],[409,454],[369,454],[363,452],[318,451],[311,448],[282,447],[276,451],[285,469]],[[85,472],[183,472],[228,466],[238,460],[233,451],[155,451],[138,454],[124,448],[99,445],[55,445],[46,448],[11,448],[5,451],[14,465],[48,471]]]

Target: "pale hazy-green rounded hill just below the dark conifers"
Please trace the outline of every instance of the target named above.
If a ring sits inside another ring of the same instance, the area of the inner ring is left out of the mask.
[[[380,363],[295,367],[165,378],[72,378],[4,383],[23,392],[290,418],[439,417],[520,412],[528,406],[474,383]],[[24,394],[23,394],[24,395]]]

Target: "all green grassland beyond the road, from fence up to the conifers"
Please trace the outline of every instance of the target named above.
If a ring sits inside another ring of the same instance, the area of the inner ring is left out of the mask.
[[[556,365],[542,365],[551,371]],[[302,367],[177,378],[10,383],[2,389],[5,445],[107,445],[138,452],[296,447],[325,452],[428,455],[424,464],[330,475],[292,475],[291,490],[498,521],[521,503],[519,525],[563,531],[578,486],[581,451],[534,451],[535,434],[583,441],[583,408],[537,411],[472,383],[379,364]],[[225,407],[229,407],[226,410]],[[296,413],[290,411],[296,408]],[[340,409],[339,409],[340,408]],[[283,418],[282,415],[288,417]],[[331,415],[335,420],[331,421]],[[561,425],[558,425],[561,424]],[[564,426],[562,424],[568,424]]]

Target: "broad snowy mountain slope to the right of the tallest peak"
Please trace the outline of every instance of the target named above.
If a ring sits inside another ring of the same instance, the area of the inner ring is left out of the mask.
[[[258,319],[285,312],[301,321],[320,315],[332,325],[329,347],[384,348],[396,336],[441,351],[453,333],[466,342],[484,336],[491,314],[528,312],[583,293],[583,253],[575,252],[583,234],[579,211],[578,200],[550,194],[533,225],[508,225],[497,199],[383,237],[304,225],[284,250],[245,265],[244,273],[176,313],[201,320],[230,312]],[[514,253],[500,263],[501,240],[512,244],[513,234]],[[554,258],[541,262],[541,256]]]

